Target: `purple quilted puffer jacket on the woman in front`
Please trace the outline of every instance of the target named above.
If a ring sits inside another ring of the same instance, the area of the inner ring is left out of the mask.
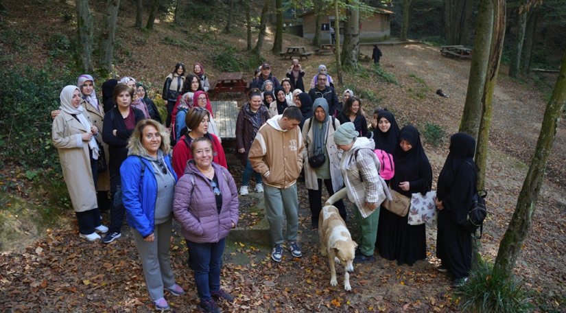
[[[226,168],[216,163],[212,166],[222,193],[220,214],[213,187],[194,160],[187,163],[185,174],[175,185],[173,214],[181,224],[185,239],[199,244],[222,240],[228,236],[232,223],[238,224],[239,202],[234,178]]]

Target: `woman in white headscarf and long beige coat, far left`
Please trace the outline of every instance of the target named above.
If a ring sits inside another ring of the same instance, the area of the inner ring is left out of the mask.
[[[77,86],[61,91],[61,112],[53,121],[52,141],[59,152],[63,177],[78,220],[80,237],[97,240],[97,231],[108,229],[100,224],[96,202],[99,148],[95,137],[98,128],[80,105],[82,94]]]

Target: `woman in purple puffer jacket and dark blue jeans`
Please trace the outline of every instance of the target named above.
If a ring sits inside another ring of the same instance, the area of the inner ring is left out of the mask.
[[[173,213],[193,260],[195,282],[204,312],[222,312],[215,301],[233,301],[220,289],[220,259],[226,237],[238,222],[238,193],[226,168],[213,163],[213,146],[207,137],[191,145],[193,159],[175,186]]]

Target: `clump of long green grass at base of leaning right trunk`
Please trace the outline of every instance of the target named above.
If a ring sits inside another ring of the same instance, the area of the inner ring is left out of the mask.
[[[462,297],[460,306],[467,312],[532,312],[528,290],[517,277],[508,277],[503,271],[494,270],[493,264],[485,263],[471,271],[456,295]]]

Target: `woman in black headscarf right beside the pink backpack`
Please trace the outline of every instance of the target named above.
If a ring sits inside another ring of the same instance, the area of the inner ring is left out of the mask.
[[[393,113],[381,110],[377,113],[373,132],[369,132],[368,135],[371,135],[370,137],[375,142],[375,149],[393,154],[399,143],[399,132],[401,130],[397,126],[397,120]],[[386,180],[386,183],[389,184],[389,181]],[[398,217],[383,206],[379,209],[379,226],[377,227],[377,240],[375,241],[377,251],[381,251],[381,247],[388,245],[387,234],[395,231],[394,220]]]

